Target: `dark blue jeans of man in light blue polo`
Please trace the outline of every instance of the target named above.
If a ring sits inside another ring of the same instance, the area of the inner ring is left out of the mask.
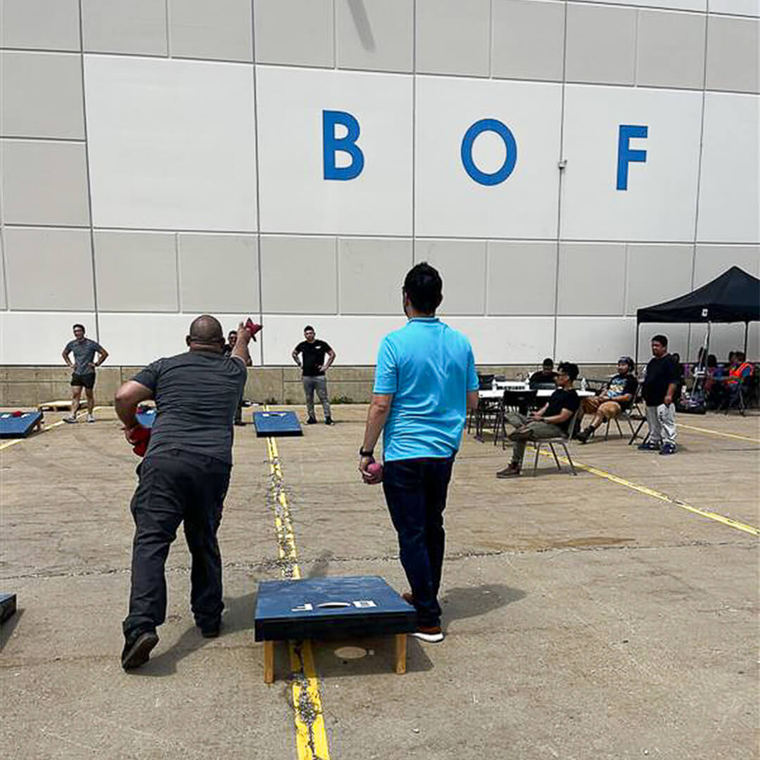
[[[445,531],[443,511],[454,456],[386,462],[382,486],[398,534],[401,565],[407,574],[417,622],[440,625],[438,590]]]

